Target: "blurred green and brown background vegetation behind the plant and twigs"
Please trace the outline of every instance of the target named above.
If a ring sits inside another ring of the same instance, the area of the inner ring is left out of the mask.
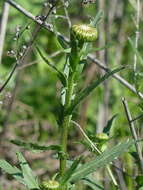
[[[14,2],[36,16],[36,19],[41,19],[41,16],[50,9],[49,1],[44,0],[15,0]],[[125,66],[125,69],[119,73],[120,76],[142,92],[143,65],[139,59],[143,55],[142,1],[140,2],[139,21],[137,21],[138,9],[135,0],[96,0],[92,3],[70,0],[68,7],[61,4],[53,10],[47,19],[47,23],[53,27],[55,32],[60,32],[69,38],[71,24],[88,24],[92,18],[95,18],[99,10],[103,14],[97,25],[99,37],[93,44],[95,47],[94,56],[110,69]],[[15,57],[21,60],[23,52],[28,49],[38,27],[22,12],[1,0],[0,30],[2,30],[4,13],[7,14],[8,20],[5,20],[4,44],[2,44],[2,40],[0,41],[0,45],[3,47],[3,51],[1,50],[0,85],[6,81],[8,74],[15,65]],[[136,44],[137,34],[139,39]],[[133,47],[129,39],[133,42]],[[56,155],[53,152],[31,153],[19,149],[9,142],[10,139],[38,142],[39,144],[56,144],[59,142],[59,127],[56,116],[60,111],[61,85],[56,75],[37,53],[35,46],[38,46],[43,54],[58,68],[64,67],[66,55],[56,36],[41,28],[32,47],[28,49],[13,77],[0,93],[0,157],[16,164],[15,152],[23,151],[36,175],[40,179],[44,179],[57,171]],[[135,48],[137,48],[137,53]],[[83,76],[79,79],[79,89],[87,86],[103,73],[103,70],[95,63],[89,61],[84,69]],[[142,100],[138,95],[131,92],[116,79],[110,78],[82,102],[74,114],[74,119],[90,136],[90,134],[102,132],[108,120],[117,114],[110,131],[110,136],[113,138],[112,143],[116,144],[127,139],[131,137],[131,134],[121,101],[122,97],[127,99],[133,118],[142,114]],[[136,129],[140,138],[142,138],[142,121],[141,118],[136,122]],[[78,129],[71,128],[69,138],[71,158],[79,154],[88,155],[85,146],[82,143],[77,143],[79,138],[81,141],[83,139]],[[124,186],[120,189],[135,189],[135,182],[132,179],[139,172],[138,168],[134,168],[135,159],[127,153],[118,160],[117,164],[129,175],[121,175],[125,180],[119,182],[124,182]],[[115,171],[115,173],[118,177],[118,172]],[[103,172],[99,171],[96,175],[97,179],[104,185],[104,189],[114,189],[106,172],[103,175]],[[10,176],[2,173],[0,185],[0,189],[5,190],[24,189]]]

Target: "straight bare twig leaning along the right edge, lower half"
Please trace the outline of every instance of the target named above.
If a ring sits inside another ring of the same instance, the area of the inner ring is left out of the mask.
[[[132,137],[135,140],[135,147],[136,147],[136,151],[138,153],[140,167],[141,167],[141,170],[143,172],[143,156],[142,156],[141,146],[140,146],[140,144],[138,142],[138,137],[137,137],[137,133],[136,133],[136,130],[135,130],[135,126],[134,126],[134,123],[132,122],[132,116],[131,116],[131,113],[130,113],[130,110],[129,110],[129,107],[128,107],[128,103],[127,103],[125,98],[122,98],[122,103],[123,103],[123,106],[124,106],[124,110],[125,110],[125,113],[126,113],[126,117],[127,117],[127,120],[128,120],[128,124],[129,124],[129,127],[130,127]]]

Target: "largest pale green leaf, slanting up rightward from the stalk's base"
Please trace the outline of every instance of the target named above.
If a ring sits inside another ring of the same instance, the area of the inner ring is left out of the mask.
[[[82,165],[78,168],[70,178],[71,182],[76,182],[87,175],[95,172],[97,169],[102,168],[120,156],[123,152],[128,151],[129,147],[135,143],[134,140],[128,140],[120,143],[111,149],[104,151],[96,159]]]

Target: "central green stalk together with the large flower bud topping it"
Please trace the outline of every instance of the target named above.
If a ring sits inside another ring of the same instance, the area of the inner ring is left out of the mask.
[[[63,177],[66,171],[67,159],[67,144],[68,144],[68,131],[72,118],[72,113],[67,113],[68,108],[73,101],[74,86],[78,75],[81,74],[83,66],[79,64],[80,59],[83,59],[84,42],[92,42],[97,38],[97,30],[89,25],[73,25],[71,28],[70,47],[71,52],[68,55],[68,68],[69,74],[67,75],[67,84],[65,87],[65,103],[62,118],[61,129],[61,147],[62,155],[60,158],[60,176]],[[61,187],[61,190],[66,190],[66,185]]]

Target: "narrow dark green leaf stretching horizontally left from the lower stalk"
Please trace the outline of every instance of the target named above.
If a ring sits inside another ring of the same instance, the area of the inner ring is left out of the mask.
[[[17,146],[23,147],[27,150],[41,150],[41,151],[56,150],[58,152],[61,150],[61,147],[59,145],[40,146],[39,144],[36,143],[25,143],[19,140],[11,140],[10,142]]]

